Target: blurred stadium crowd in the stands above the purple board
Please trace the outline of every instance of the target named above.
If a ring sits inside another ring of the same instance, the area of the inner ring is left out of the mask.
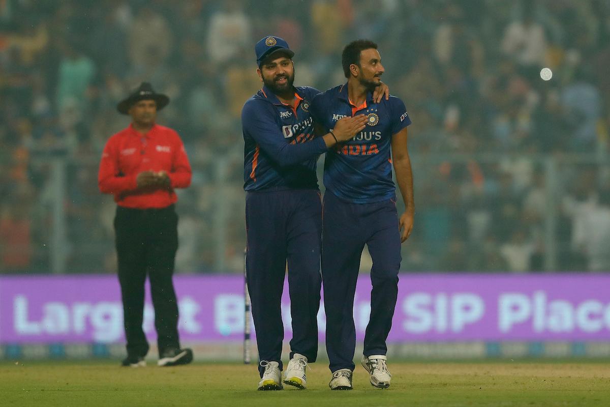
[[[170,96],[159,123],[193,166],[178,272],[242,272],[240,111],[268,34],[295,51],[295,84],[321,90],[345,81],[348,41],[379,44],[414,122],[405,272],[610,270],[608,0],[4,0],[0,272],[48,273],[51,250],[66,273],[115,270],[97,169],[140,81]]]

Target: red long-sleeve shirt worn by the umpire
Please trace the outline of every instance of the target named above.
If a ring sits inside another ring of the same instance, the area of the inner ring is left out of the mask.
[[[142,171],[165,171],[171,189],[138,190],[135,178]],[[191,167],[177,132],[154,124],[145,135],[130,124],[110,137],[99,163],[98,186],[112,193],[115,202],[137,209],[162,208],[178,201],[174,188],[186,188]]]

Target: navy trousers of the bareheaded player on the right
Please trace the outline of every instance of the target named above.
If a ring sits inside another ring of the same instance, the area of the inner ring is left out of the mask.
[[[398,295],[400,231],[396,203],[353,204],[326,191],[323,206],[322,281],[326,351],[331,372],[354,370],[354,294],[364,245],[373,259],[371,315],[364,355],[386,355]]]

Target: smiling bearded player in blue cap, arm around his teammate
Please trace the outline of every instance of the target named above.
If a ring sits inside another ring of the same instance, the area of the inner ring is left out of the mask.
[[[293,86],[294,52],[273,35],[254,49],[264,86],[243,106],[242,126],[246,280],[260,359],[258,389],[282,389],[280,300],[286,264],[293,336],[283,381],[304,389],[307,363],[315,362],[318,351],[322,222],[316,161],[328,148],[362,131],[367,117],[346,117],[334,124],[332,133],[314,137],[309,109],[319,92]],[[376,98],[382,98],[384,89]]]

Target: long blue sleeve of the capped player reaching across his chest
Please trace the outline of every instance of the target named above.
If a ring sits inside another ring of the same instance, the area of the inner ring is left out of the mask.
[[[243,134],[252,137],[271,160],[284,167],[326,152],[326,143],[321,138],[305,143],[287,142],[278,123],[274,121],[273,108],[265,104],[267,102],[248,101],[242,110],[242,126]]]

